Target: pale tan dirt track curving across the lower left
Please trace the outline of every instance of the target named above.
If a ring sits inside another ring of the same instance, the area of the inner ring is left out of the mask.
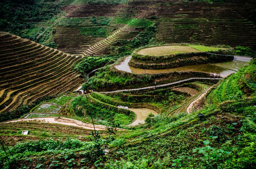
[[[40,123],[56,123],[63,125],[71,125],[75,127],[82,127],[88,130],[94,130],[93,125],[90,123],[83,123],[79,120],[68,119],[68,118],[59,118],[59,117],[40,117],[40,118],[27,118],[27,119],[18,119],[12,120],[4,123],[14,123],[14,122],[40,122]],[[95,125],[95,130],[106,130],[106,126],[104,125]],[[118,129],[119,131],[125,131],[125,129]]]

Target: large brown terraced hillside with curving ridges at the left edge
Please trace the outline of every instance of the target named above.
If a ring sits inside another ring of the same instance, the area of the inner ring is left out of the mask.
[[[80,56],[0,32],[0,112],[46,95],[74,91],[84,82],[72,72]]]

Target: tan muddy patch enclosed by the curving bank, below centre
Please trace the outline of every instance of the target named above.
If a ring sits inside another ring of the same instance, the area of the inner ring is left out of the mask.
[[[136,119],[133,123],[129,124],[128,127],[136,126],[139,123],[144,124],[147,116],[152,113],[153,115],[157,115],[157,112],[148,108],[129,108],[129,110],[133,111],[136,114]]]

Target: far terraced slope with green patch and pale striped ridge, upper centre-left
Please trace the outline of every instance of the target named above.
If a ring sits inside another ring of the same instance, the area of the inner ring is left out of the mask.
[[[147,19],[123,17],[66,17],[60,22],[54,36],[58,48],[81,56],[109,54],[114,43],[132,39],[140,32],[140,27],[152,24]]]

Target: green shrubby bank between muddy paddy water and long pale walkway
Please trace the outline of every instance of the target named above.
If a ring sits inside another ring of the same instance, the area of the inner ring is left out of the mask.
[[[87,83],[82,84],[83,90],[96,89],[96,91],[113,91],[120,89],[140,88],[153,86],[155,81],[158,84],[165,84],[190,77],[208,77],[207,73],[201,72],[171,72],[163,74],[132,74],[118,71],[107,66],[90,77]]]

